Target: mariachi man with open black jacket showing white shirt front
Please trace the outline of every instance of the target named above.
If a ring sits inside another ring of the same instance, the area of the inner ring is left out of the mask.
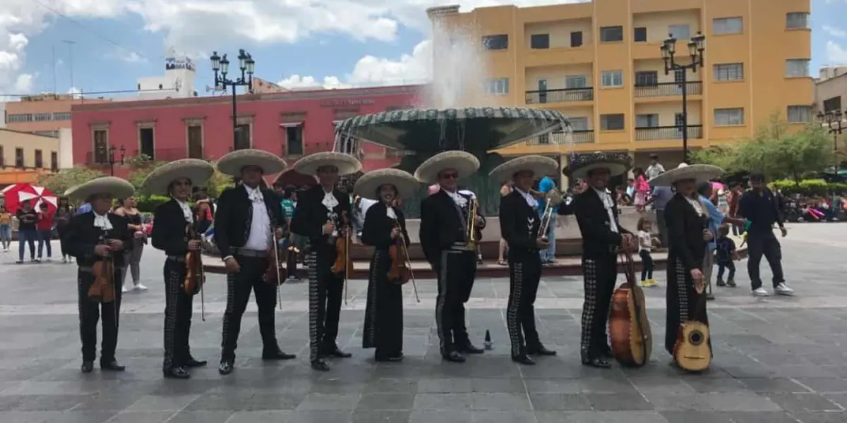
[[[286,166],[280,157],[252,149],[232,151],[218,161],[220,173],[241,179],[241,184],[220,194],[214,219],[215,241],[226,269],[226,310],[218,367],[222,375],[233,370],[241,316],[251,289],[258,307],[262,360],[295,358],[285,354],[276,340],[274,307],[279,281],[268,283],[265,277],[268,266],[279,266],[274,256],[275,239],[283,235],[285,215],[274,192],[260,186],[264,175],[280,173]]]

